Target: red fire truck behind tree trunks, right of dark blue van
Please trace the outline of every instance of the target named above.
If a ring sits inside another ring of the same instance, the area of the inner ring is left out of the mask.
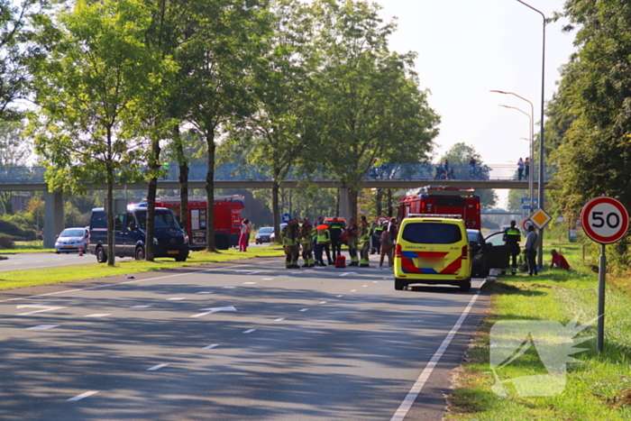
[[[179,218],[179,197],[156,197],[156,206],[169,207]],[[206,197],[188,197],[188,217],[185,228],[190,238],[191,250],[206,248]],[[241,211],[245,208],[244,197],[215,196],[215,247],[227,250],[239,244]]]

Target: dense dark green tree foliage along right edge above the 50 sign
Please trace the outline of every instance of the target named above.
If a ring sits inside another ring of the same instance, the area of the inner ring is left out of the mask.
[[[568,31],[576,28],[578,52],[562,72],[561,109],[549,112],[556,114],[553,123],[562,139],[553,152],[559,166],[554,197],[564,215],[574,219],[600,195],[631,206],[631,4],[568,0],[564,15],[571,22]],[[627,243],[614,247],[625,267]]]

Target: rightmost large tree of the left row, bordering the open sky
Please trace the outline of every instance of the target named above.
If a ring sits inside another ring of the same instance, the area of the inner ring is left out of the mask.
[[[320,0],[314,9],[315,104],[326,122],[314,156],[349,188],[356,215],[359,181],[372,161],[391,151],[425,160],[439,118],[418,87],[416,54],[389,51],[396,26],[382,22],[380,6]]]

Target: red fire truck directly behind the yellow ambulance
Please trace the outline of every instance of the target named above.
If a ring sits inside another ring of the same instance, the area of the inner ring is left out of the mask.
[[[426,186],[407,191],[398,201],[399,221],[410,214],[461,215],[467,228],[479,230],[480,197],[472,188]]]

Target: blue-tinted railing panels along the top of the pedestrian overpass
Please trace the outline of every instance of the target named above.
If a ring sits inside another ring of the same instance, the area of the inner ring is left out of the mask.
[[[206,165],[191,165],[188,173],[189,181],[203,181],[206,179]],[[40,184],[44,183],[43,167],[0,167],[0,184]],[[544,167],[544,181],[554,178],[557,172],[554,166]],[[162,180],[178,181],[179,169],[177,165],[170,164],[165,177]],[[530,169],[530,176],[538,182],[539,168]],[[311,171],[306,177],[299,169],[289,171],[287,180],[311,179],[314,181],[333,180],[334,177],[325,169]],[[515,165],[482,165],[471,168],[469,165],[450,165],[449,173],[444,171],[444,166],[436,164],[382,164],[380,167],[369,169],[364,179],[390,179],[390,180],[516,180],[517,167]],[[526,179],[526,178],[522,178]],[[216,181],[270,181],[269,168],[254,165],[222,164],[215,167]]]

